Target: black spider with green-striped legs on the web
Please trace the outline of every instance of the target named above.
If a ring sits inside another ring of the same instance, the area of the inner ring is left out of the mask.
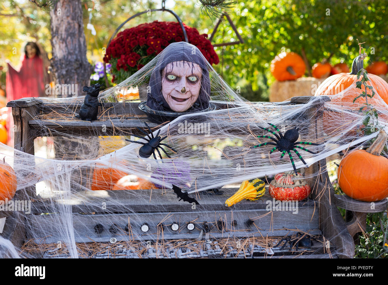
[[[272,136],[258,136],[258,138],[270,138],[271,140],[273,140],[276,143],[273,143],[273,142],[260,143],[259,145],[253,146],[252,149],[254,149],[255,147],[261,147],[263,145],[275,145],[275,147],[273,149],[271,149],[271,151],[269,153],[272,154],[272,152],[274,152],[276,149],[278,149],[279,151],[282,152],[282,155],[280,158],[282,158],[284,156],[284,154],[286,152],[288,152],[288,155],[290,157],[291,164],[294,168],[295,174],[297,174],[295,164],[294,164],[294,159],[292,158],[292,155],[291,155],[291,150],[293,150],[293,152],[295,152],[296,155],[298,155],[299,159],[305,164],[305,166],[307,166],[307,163],[303,160],[303,158],[299,154],[298,150],[296,150],[295,148],[305,150],[307,152],[310,152],[310,154],[316,154],[315,152],[312,152],[308,149],[305,149],[304,147],[301,147],[298,144],[305,144],[305,145],[320,145],[320,144],[319,143],[310,143],[310,142],[296,142],[296,140],[298,140],[298,138],[299,138],[299,133],[298,133],[299,128],[293,128],[293,129],[287,130],[284,133],[284,135],[282,135],[281,131],[279,130],[279,128],[277,126],[275,126],[274,124],[270,124],[270,123],[267,123],[267,124],[272,126],[272,128],[274,128],[278,133],[275,133],[274,131],[271,131],[270,129],[267,129],[267,128],[262,128],[262,127],[259,127],[259,128],[274,134],[277,137],[277,139],[273,138]]]

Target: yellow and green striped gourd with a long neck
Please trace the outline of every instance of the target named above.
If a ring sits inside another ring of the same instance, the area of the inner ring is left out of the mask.
[[[242,181],[240,189],[225,201],[225,206],[233,206],[242,199],[255,201],[265,193],[265,182],[259,178]]]

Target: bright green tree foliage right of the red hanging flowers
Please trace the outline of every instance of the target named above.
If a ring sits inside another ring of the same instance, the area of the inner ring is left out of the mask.
[[[329,9],[329,10],[327,10]],[[226,80],[234,85],[239,78],[249,82],[258,73],[269,74],[270,62],[283,50],[301,55],[310,67],[333,53],[331,63],[343,60],[351,66],[358,55],[356,37],[366,41],[371,60],[387,60],[388,28],[386,1],[345,0],[253,0],[239,2],[230,15],[245,41],[242,45],[223,48]],[[226,21],[219,28],[215,42],[229,41],[234,32]],[[371,54],[374,48],[375,54]],[[220,65],[216,67],[220,68]],[[268,77],[274,80],[272,76]]]

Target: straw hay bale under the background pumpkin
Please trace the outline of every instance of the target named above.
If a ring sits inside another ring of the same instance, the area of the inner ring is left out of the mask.
[[[301,77],[296,80],[275,81],[270,88],[270,102],[282,102],[295,96],[314,96],[326,78]]]

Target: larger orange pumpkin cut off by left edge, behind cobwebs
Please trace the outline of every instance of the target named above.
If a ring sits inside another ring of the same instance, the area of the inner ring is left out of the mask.
[[[16,192],[16,173],[3,159],[0,162],[0,201],[11,200]]]

